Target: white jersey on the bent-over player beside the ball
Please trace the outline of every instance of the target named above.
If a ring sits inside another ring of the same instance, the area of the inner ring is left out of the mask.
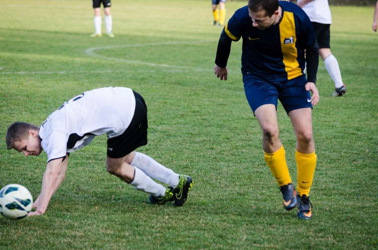
[[[95,136],[121,135],[134,112],[135,96],[129,88],[94,89],[65,102],[39,129],[47,162],[87,146]]]

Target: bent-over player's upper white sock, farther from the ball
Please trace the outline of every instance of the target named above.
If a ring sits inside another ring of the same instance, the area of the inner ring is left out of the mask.
[[[173,172],[171,169],[164,167],[150,156],[135,152],[135,157],[130,165],[142,170],[149,177],[160,180],[172,188],[178,185],[179,174]]]

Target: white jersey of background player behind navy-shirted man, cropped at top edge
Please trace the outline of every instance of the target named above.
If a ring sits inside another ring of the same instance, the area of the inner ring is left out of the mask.
[[[298,0],[297,4],[301,0]],[[310,18],[311,22],[332,24],[332,16],[328,0],[313,0],[303,6],[302,10]]]

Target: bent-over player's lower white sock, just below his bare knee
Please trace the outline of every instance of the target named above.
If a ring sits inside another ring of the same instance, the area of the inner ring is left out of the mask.
[[[134,179],[130,185],[134,186],[137,190],[143,191],[155,197],[164,197],[165,188],[148,177],[142,170],[135,168]]]

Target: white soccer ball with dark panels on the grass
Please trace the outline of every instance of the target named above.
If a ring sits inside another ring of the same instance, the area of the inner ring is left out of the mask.
[[[6,185],[0,190],[0,213],[11,220],[19,220],[28,215],[33,205],[33,197],[25,186]]]

